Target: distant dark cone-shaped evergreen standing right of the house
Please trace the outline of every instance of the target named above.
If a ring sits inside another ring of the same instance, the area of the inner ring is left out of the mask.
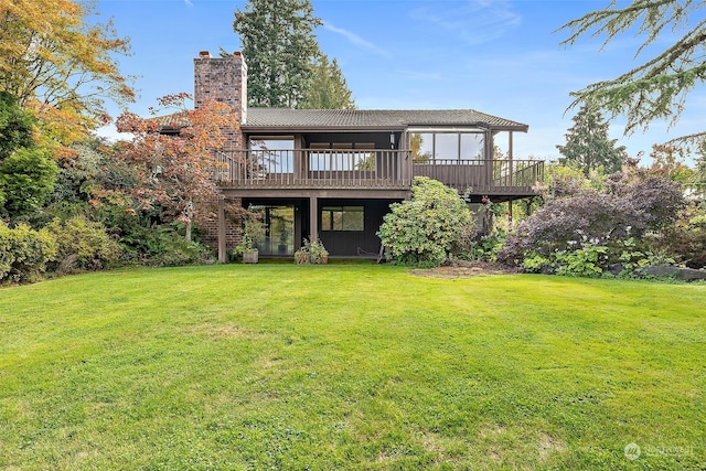
[[[588,176],[599,167],[607,173],[620,170],[625,147],[616,147],[617,139],[608,138],[608,122],[600,111],[584,105],[573,118],[574,126],[566,133],[566,144],[556,148],[564,156],[561,163],[575,164]]]

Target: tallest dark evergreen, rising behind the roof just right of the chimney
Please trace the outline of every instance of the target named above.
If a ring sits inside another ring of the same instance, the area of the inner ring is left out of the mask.
[[[235,11],[248,64],[248,105],[296,108],[309,94],[321,20],[309,0],[247,0]]]

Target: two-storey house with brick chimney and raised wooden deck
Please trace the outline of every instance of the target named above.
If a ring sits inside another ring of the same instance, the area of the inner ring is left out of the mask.
[[[332,256],[376,255],[375,235],[389,204],[410,197],[425,175],[468,194],[511,201],[534,195],[541,161],[512,158],[513,135],[527,126],[473,109],[346,110],[247,107],[247,65],[238,52],[194,60],[194,101],[220,100],[239,113],[240,127],[223,151],[218,257],[234,243],[225,201],[254,207],[267,224],[266,256],[291,256],[304,237]],[[493,159],[498,139],[509,157]]]

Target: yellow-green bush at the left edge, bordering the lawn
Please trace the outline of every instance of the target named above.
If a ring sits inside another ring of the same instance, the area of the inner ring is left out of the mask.
[[[35,281],[56,256],[56,242],[45,231],[26,224],[14,228],[0,221],[0,281]]]

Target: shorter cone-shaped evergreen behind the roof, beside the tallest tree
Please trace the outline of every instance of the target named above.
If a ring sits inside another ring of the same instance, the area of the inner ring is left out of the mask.
[[[298,108],[355,109],[352,95],[338,61],[334,58],[329,62],[329,57],[321,54],[315,62],[307,94]]]

